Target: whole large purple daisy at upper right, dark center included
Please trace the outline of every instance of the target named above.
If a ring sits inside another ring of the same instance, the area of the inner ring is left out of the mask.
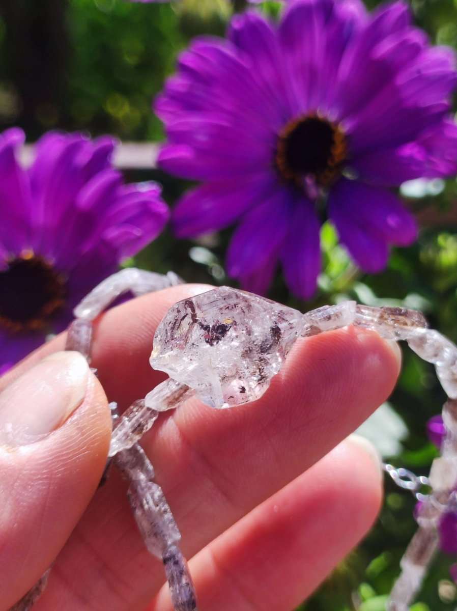
[[[159,165],[203,181],[174,211],[180,237],[238,223],[229,275],[264,292],[280,262],[308,298],[329,218],[364,271],[417,236],[389,188],[453,174],[454,55],[431,48],[403,2],[294,0],[280,22],[236,15],[228,40],[197,38],[156,100]]]

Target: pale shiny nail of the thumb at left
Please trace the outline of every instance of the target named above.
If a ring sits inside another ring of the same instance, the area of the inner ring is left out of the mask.
[[[0,394],[0,443],[32,444],[56,430],[82,403],[89,365],[78,352],[57,352]]]

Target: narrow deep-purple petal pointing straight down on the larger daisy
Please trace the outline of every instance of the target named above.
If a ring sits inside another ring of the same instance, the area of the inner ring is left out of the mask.
[[[320,222],[309,200],[296,202],[282,247],[285,281],[294,295],[309,299],[321,269]]]

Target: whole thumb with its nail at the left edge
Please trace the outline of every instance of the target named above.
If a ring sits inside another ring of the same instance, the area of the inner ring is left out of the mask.
[[[108,454],[103,389],[76,352],[55,353],[0,393],[0,609],[42,576],[87,507]]]

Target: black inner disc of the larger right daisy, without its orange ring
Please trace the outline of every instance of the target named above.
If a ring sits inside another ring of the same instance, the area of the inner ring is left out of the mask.
[[[297,174],[325,172],[334,144],[334,129],[316,117],[305,119],[285,137],[285,161]]]

